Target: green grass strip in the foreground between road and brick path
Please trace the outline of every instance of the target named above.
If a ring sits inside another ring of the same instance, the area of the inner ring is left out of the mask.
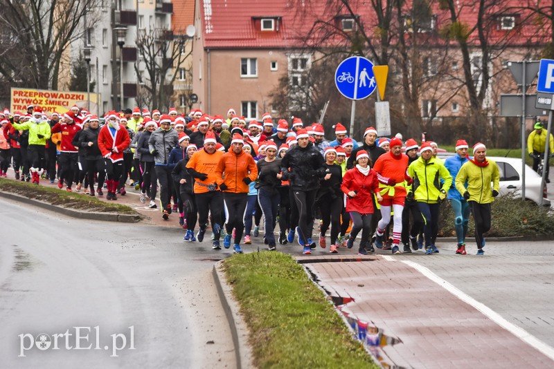
[[[258,368],[378,368],[291,256],[239,254],[224,261],[250,331]]]

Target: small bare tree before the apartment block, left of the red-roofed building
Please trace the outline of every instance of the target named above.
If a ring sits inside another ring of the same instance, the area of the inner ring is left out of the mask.
[[[186,52],[187,38],[185,32],[174,32],[166,29],[152,29],[139,35],[136,47],[141,61],[135,64],[136,75],[145,93],[150,95],[150,108],[169,108],[173,104],[172,84],[179,73],[179,68],[192,51]],[[144,75],[139,63],[145,66]]]

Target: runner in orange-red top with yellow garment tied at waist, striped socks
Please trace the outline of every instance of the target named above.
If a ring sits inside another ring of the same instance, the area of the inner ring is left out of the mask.
[[[393,226],[393,254],[400,254],[398,245],[402,236],[402,211],[406,199],[404,183],[411,185],[408,169],[408,156],[402,153],[402,141],[393,138],[390,143],[391,151],[379,156],[373,169],[377,172],[379,189],[383,200],[381,202],[381,220],[377,223],[377,237],[375,245],[383,247],[382,236],[384,229],[391,221],[391,207],[394,211]]]

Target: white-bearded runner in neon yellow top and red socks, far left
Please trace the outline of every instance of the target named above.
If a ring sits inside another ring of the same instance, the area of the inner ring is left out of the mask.
[[[46,141],[52,134],[50,124],[42,118],[42,109],[37,107],[30,120],[24,123],[13,123],[12,126],[15,129],[29,131],[27,155],[31,163],[30,175],[33,183],[38,185],[46,164]]]

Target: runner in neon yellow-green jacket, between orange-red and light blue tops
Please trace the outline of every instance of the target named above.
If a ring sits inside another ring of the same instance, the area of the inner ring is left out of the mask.
[[[420,154],[408,167],[408,174],[413,182],[407,198],[413,198],[417,202],[424,221],[425,254],[431,255],[438,252],[435,240],[438,234],[439,200],[446,198],[446,191],[452,185],[452,176],[442,160],[433,157],[433,148],[429,142],[421,144]]]

